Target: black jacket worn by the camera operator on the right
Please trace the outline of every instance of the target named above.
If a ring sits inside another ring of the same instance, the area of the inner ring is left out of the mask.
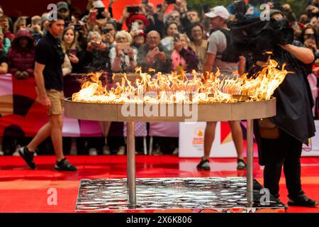
[[[302,46],[296,41],[293,45]],[[287,74],[284,82],[275,90],[273,96],[276,97],[276,116],[271,120],[282,131],[301,143],[308,144],[308,138],[315,135],[315,123],[311,111],[314,102],[307,80],[311,68],[281,48],[275,48],[273,53],[272,59],[279,62],[279,65],[286,62],[286,70],[295,73]],[[264,150],[260,143],[257,121],[254,124],[254,133],[258,143],[259,164],[264,165],[264,155],[267,150]]]

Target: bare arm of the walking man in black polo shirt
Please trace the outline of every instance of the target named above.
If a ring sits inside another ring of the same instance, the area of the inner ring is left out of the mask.
[[[45,92],[45,82],[43,77],[44,68],[45,68],[45,65],[35,62],[34,79],[35,79],[35,84],[37,85],[37,88],[38,88],[38,96],[40,99],[40,104],[43,104],[43,106],[46,106],[46,107],[50,107],[51,101],[47,97],[47,93]]]

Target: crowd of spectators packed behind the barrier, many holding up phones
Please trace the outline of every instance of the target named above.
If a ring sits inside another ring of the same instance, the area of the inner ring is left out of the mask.
[[[117,21],[112,12],[115,1],[104,6],[102,1],[89,0],[84,12],[65,1],[57,3],[57,11],[66,21],[61,37],[65,53],[64,75],[103,71],[111,84],[113,73],[134,72],[136,66],[145,72],[149,68],[164,73],[172,70],[201,72],[212,32],[209,18],[205,16],[207,6],[196,11],[188,7],[186,0],[177,0],[173,10],[167,13],[167,1],[154,6],[142,0],[138,6],[125,6]],[[319,0],[309,1],[299,19],[289,4],[280,5],[274,0],[265,3],[284,13],[295,31],[295,39],[313,50],[313,73],[308,77],[318,96]],[[246,16],[259,16],[258,9],[252,4],[249,6]],[[233,10],[230,4],[231,15]],[[230,21],[232,19],[233,15]],[[48,13],[14,19],[6,16],[5,9],[0,6],[0,74],[10,73],[16,79],[33,77],[35,45],[47,33],[48,24]],[[316,110],[315,115],[318,114]],[[101,143],[103,147],[104,140]],[[118,147],[123,153],[123,144]],[[108,153],[108,148],[104,150]]]

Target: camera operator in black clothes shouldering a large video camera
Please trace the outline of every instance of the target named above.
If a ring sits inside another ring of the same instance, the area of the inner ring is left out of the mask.
[[[288,205],[313,207],[318,202],[308,198],[301,187],[301,152],[303,143],[308,144],[308,139],[315,135],[313,97],[307,81],[314,55],[312,50],[293,40],[293,28],[281,11],[272,10],[269,15],[269,21],[244,18],[231,29],[238,50],[252,55],[254,65],[248,77],[254,78],[267,66],[270,57],[279,68],[286,65],[285,70],[293,72],[273,94],[276,116],[254,123],[259,165],[264,165],[264,187],[279,199],[279,181],[284,167]],[[249,34],[245,33],[247,30]]]

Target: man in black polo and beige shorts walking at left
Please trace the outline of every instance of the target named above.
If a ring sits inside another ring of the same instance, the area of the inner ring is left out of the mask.
[[[35,48],[35,83],[38,93],[37,101],[47,108],[50,118],[35,138],[25,147],[19,150],[21,157],[26,161],[31,169],[35,169],[33,162],[35,148],[51,136],[57,162],[55,170],[76,171],[77,167],[71,165],[65,159],[62,150],[62,114],[63,114],[63,76],[62,63],[65,55],[62,52],[60,40],[57,38],[62,35],[65,21],[60,13],[57,13],[57,20],[50,21],[50,28],[44,38],[40,39]]]

